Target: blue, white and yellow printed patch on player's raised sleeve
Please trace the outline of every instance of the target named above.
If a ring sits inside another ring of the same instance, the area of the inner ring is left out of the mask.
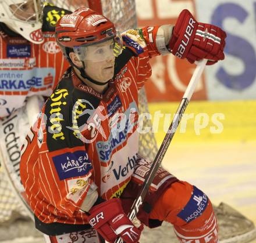
[[[131,29],[122,33],[123,43],[125,46],[133,50],[134,53],[140,55],[147,46],[141,29]]]

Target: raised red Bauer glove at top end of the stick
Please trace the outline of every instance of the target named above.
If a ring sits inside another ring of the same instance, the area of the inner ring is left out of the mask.
[[[208,59],[207,65],[224,59],[226,32],[212,24],[198,23],[189,10],[180,13],[169,49],[180,59],[186,58],[190,63]]]

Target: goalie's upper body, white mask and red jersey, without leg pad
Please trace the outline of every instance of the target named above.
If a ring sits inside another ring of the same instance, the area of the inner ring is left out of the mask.
[[[69,63],[55,41],[56,23],[69,11],[42,0],[0,2],[0,117],[49,96]]]

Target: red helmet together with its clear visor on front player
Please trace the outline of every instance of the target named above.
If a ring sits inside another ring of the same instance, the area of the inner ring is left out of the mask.
[[[56,25],[56,41],[71,64],[70,52],[76,53],[83,62],[105,61],[119,56],[123,45],[114,24],[89,8],[63,16]]]

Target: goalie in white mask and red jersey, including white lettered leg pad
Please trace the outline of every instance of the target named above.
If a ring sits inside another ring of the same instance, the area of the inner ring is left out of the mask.
[[[65,13],[41,0],[0,1],[0,153],[17,172],[29,119],[69,66],[55,41],[56,22]],[[31,96],[38,102],[28,111]],[[15,181],[20,184],[19,177]]]

